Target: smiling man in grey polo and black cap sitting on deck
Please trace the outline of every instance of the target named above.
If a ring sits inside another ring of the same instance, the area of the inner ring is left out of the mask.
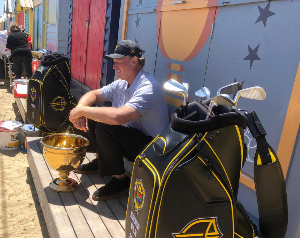
[[[119,80],[84,94],[70,113],[70,121],[90,141],[88,152],[97,153],[96,159],[74,172],[113,175],[93,193],[93,200],[108,200],[129,191],[123,156],[134,162],[169,122],[162,86],[144,71],[143,53],[134,41],[119,42],[113,54],[104,56],[113,59]],[[113,102],[113,107],[91,106],[103,101]]]

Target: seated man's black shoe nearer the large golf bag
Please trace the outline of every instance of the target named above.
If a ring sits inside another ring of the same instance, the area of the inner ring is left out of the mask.
[[[112,177],[107,184],[93,193],[93,200],[102,201],[118,197],[129,192],[130,178],[125,176],[124,179]]]

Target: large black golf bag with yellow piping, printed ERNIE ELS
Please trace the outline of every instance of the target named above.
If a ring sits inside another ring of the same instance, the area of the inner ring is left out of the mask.
[[[190,102],[185,118],[181,118],[182,107],[175,110],[171,123],[136,158],[126,212],[126,237],[254,238],[258,235],[256,226],[237,201],[239,177],[247,155],[244,142],[247,117],[218,105],[217,115],[205,119],[209,101]],[[275,158],[276,154],[272,156]],[[267,224],[260,224],[260,229],[266,226],[273,229],[266,228],[268,231],[262,233],[267,238],[283,238],[287,225],[285,183],[276,159],[271,164],[276,170],[273,176],[278,175],[275,186],[279,189],[275,192],[281,194],[274,194],[270,186],[263,188],[265,191],[260,190],[263,186],[258,188],[260,196],[270,193],[258,202],[259,215]],[[270,205],[264,210],[263,203],[272,196],[276,200],[272,206],[279,206],[275,213]],[[280,219],[286,223],[279,222]]]

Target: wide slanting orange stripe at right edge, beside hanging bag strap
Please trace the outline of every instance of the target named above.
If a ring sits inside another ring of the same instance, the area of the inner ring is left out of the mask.
[[[292,157],[297,132],[300,125],[300,62],[287,108],[283,129],[277,149],[277,156],[280,161],[284,177],[287,175],[288,165]]]

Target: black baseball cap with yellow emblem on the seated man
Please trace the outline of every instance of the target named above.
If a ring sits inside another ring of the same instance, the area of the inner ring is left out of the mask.
[[[142,54],[144,53],[144,50],[141,50],[141,48],[138,46],[137,43],[135,43],[132,40],[123,40],[120,41],[115,48],[115,51],[113,54],[105,55],[105,59],[118,59],[122,58],[126,55],[129,56],[136,56],[138,58],[142,57]]]

